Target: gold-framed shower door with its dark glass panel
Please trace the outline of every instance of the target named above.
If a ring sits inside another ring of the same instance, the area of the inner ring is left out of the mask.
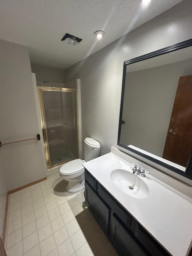
[[[77,90],[38,87],[47,167],[79,158]]]

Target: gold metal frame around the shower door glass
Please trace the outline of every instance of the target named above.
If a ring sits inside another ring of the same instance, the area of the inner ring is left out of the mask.
[[[47,164],[47,169],[50,169],[52,167],[56,167],[58,165],[61,165],[66,162],[69,162],[71,160],[79,158],[79,126],[78,126],[77,89],[59,88],[59,87],[44,87],[44,86],[38,86],[37,88],[39,91],[39,101],[40,101],[40,108],[41,108],[41,127],[42,127],[42,132],[43,132],[46,164]],[[76,132],[75,132],[75,149],[77,152],[77,158],[72,158],[70,160],[61,162],[59,164],[51,165],[51,159],[50,159],[50,153],[49,153],[49,143],[48,143],[47,129],[46,129],[44,103],[43,103],[43,91],[73,92],[73,112],[74,112],[73,115],[74,115],[74,127],[76,130]],[[74,92],[76,92],[75,95],[74,95]],[[74,103],[76,103],[76,108],[75,108]],[[75,110],[76,110],[76,115],[75,115]],[[76,118],[75,118],[75,116],[76,116]]]

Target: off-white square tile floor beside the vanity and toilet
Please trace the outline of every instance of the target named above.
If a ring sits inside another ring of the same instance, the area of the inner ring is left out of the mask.
[[[85,205],[58,174],[9,195],[7,256],[117,256]]]

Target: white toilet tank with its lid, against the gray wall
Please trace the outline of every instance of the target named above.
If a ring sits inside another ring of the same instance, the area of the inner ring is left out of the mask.
[[[100,143],[92,138],[84,140],[84,159],[86,162],[97,158],[100,153]]]

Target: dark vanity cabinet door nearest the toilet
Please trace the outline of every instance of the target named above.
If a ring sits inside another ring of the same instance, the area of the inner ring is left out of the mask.
[[[109,230],[110,207],[85,181],[85,203],[106,235]]]

